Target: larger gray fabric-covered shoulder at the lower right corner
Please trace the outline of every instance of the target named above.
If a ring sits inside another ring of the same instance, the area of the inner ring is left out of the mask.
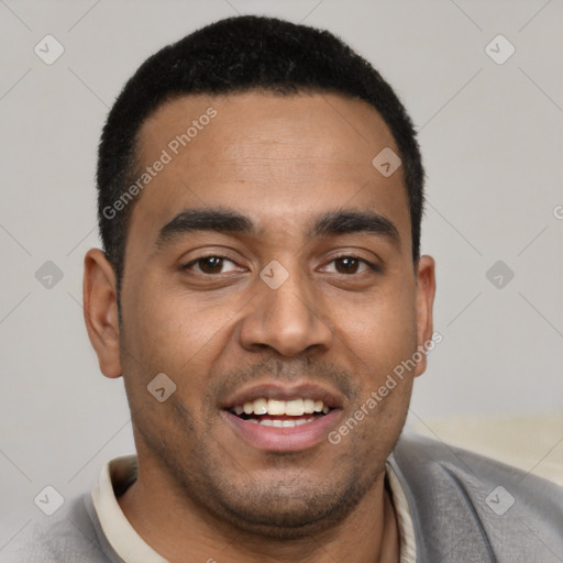
[[[483,561],[563,560],[563,488],[556,484],[413,433],[400,438],[389,461],[417,540],[431,556],[453,548],[465,556],[478,552]]]

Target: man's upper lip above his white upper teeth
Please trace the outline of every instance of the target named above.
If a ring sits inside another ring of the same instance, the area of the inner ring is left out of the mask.
[[[238,405],[252,402],[256,399],[291,400],[297,398],[322,400],[329,408],[342,408],[343,399],[336,391],[311,383],[271,382],[254,384],[238,389],[221,404],[222,409],[231,409]]]

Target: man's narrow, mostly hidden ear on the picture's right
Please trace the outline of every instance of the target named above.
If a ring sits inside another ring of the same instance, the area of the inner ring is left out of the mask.
[[[422,360],[417,363],[415,377],[427,368],[426,346],[433,334],[433,305],[435,295],[435,264],[432,256],[420,256],[417,267],[417,350],[422,352]]]

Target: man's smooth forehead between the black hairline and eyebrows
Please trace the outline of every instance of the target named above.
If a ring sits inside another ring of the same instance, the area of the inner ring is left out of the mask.
[[[180,97],[140,130],[139,174],[159,172],[130,230],[154,236],[178,211],[218,205],[244,211],[262,233],[276,219],[295,230],[309,225],[311,213],[345,206],[394,216],[410,229],[401,168],[385,177],[372,164],[384,150],[398,153],[378,112],[340,95]]]

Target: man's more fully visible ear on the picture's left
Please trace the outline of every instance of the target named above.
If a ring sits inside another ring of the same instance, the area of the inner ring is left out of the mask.
[[[106,377],[122,374],[115,282],[113,267],[103,252],[90,249],[84,258],[84,319]]]

